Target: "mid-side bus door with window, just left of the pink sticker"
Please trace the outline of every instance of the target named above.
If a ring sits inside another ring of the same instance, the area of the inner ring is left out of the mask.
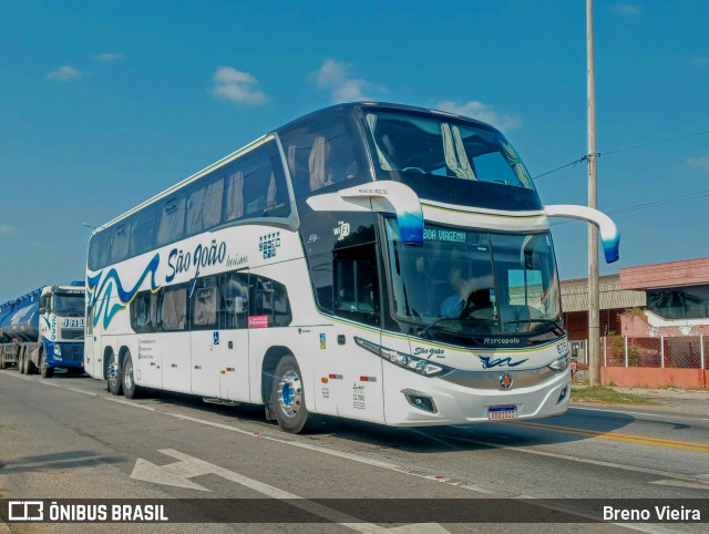
[[[248,271],[220,276],[222,310],[215,350],[219,355],[219,397],[249,402]]]

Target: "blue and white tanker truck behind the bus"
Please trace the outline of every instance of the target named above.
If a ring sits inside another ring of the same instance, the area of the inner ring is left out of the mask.
[[[0,306],[0,369],[12,364],[21,373],[54,369],[84,372],[83,281],[43,286]]]

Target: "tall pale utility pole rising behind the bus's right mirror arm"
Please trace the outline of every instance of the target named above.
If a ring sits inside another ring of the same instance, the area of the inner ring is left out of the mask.
[[[588,207],[598,207],[596,184],[596,75],[594,68],[594,8],[586,0],[586,81],[588,90]],[[598,228],[588,225],[588,374],[600,386],[600,294],[598,291]]]

